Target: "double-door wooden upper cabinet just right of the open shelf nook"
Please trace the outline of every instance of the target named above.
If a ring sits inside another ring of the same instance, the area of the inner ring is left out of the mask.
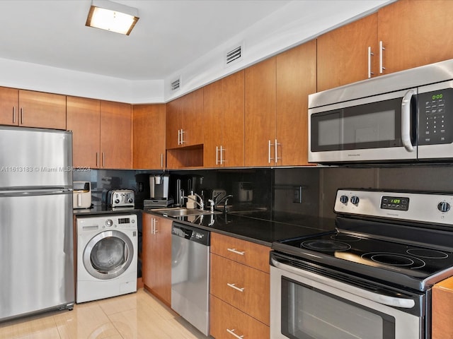
[[[244,165],[244,71],[203,88],[203,166]]]

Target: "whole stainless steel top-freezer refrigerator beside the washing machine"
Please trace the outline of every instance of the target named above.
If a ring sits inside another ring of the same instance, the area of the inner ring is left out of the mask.
[[[0,126],[0,321],[74,307],[72,134]]]

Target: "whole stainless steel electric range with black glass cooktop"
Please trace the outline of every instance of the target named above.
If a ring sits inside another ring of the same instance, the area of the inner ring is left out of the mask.
[[[273,244],[271,338],[430,338],[453,275],[452,194],[340,189],[336,230]]]

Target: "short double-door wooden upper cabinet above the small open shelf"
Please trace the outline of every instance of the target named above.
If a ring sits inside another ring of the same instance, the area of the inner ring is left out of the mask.
[[[166,148],[203,143],[203,89],[168,102],[166,108]]]

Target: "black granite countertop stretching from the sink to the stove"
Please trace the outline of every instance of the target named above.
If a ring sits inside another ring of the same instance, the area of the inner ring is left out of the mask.
[[[162,217],[161,214],[156,213],[156,210],[147,209],[144,212]],[[306,237],[335,229],[333,219],[314,218],[304,215],[287,215],[286,213],[285,215],[285,222],[262,219],[260,218],[261,214],[259,211],[255,214],[252,212],[240,214],[227,213],[226,215],[222,213],[163,218],[171,218],[185,225],[222,233],[265,246],[271,246],[273,242],[282,239]]]

